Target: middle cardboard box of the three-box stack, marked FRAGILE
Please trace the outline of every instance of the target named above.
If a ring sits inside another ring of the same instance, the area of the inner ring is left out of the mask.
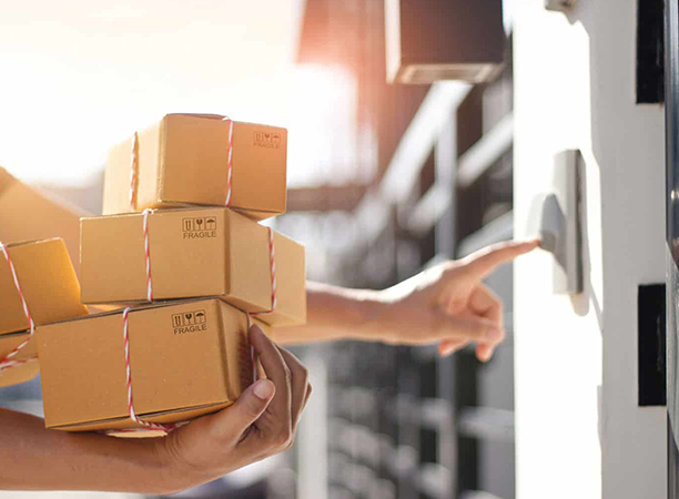
[[[82,218],[82,303],[146,302],[143,215]],[[220,296],[246,312],[272,305],[268,230],[227,208],[149,215],[153,299]],[[304,247],[274,233],[277,305],[273,326],[306,320]]]

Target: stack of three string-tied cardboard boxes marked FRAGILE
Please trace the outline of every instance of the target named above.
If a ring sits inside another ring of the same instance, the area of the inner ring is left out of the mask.
[[[285,211],[286,143],[170,114],[112,149],[80,276],[83,304],[115,309],[37,328],[49,428],[166,430],[219,410],[253,381],[247,325],[305,322],[304,248],[257,223]]]

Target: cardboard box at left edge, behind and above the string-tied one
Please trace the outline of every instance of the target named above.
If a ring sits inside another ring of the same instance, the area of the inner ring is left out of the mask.
[[[0,167],[0,241],[62,237],[79,272],[80,217],[88,213],[19,182]]]

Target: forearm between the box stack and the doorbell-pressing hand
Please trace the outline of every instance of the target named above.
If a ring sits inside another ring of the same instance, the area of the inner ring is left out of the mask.
[[[384,305],[384,297],[379,292],[307,282],[306,324],[277,327],[274,330],[274,339],[282,344],[376,339],[374,319]]]

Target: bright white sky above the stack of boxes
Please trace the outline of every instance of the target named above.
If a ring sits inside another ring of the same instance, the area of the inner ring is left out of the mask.
[[[322,123],[353,83],[293,68],[303,4],[0,0],[0,164],[27,181],[87,182],[136,128],[204,112],[287,126],[291,184],[323,181],[314,149],[338,144]]]

